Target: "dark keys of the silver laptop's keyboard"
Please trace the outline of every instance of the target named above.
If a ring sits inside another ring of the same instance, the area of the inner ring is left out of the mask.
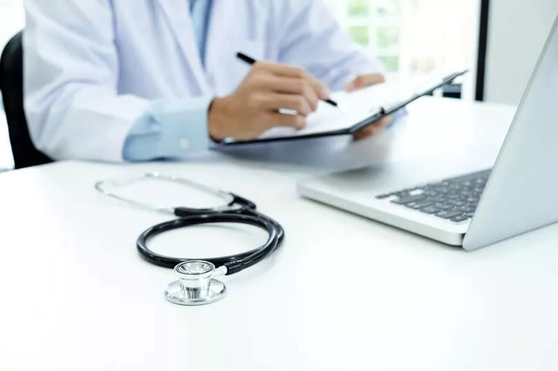
[[[465,222],[473,218],[490,169],[456,178],[428,183],[411,189],[377,195],[421,213],[434,215],[452,222]]]

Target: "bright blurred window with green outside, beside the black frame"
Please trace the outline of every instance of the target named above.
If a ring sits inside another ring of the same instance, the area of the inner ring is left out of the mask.
[[[400,78],[471,70],[464,98],[473,99],[479,1],[324,0],[353,41]]]

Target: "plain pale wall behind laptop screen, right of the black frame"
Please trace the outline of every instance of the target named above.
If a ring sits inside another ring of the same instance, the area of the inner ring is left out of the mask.
[[[519,103],[557,16],[558,0],[490,0],[487,102]]]

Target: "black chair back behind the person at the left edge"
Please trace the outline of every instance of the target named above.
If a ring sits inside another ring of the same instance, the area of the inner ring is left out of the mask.
[[[23,112],[23,32],[12,37],[0,58],[0,90],[16,169],[52,162],[34,147]]]

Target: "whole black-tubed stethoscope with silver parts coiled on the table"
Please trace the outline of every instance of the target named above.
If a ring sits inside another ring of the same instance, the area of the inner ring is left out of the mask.
[[[184,206],[152,206],[130,198],[124,198],[114,192],[114,189],[118,187],[125,187],[134,182],[149,179],[175,182],[186,187],[192,187],[198,191],[215,195],[225,203],[205,209],[192,209]],[[282,226],[275,220],[256,211],[254,202],[234,193],[213,189],[185,178],[163,176],[160,173],[145,173],[143,176],[125,180],[101,180],[96,182],[95,189],[104,195],[141,209],[178,217],[178,219],[150,226],[136,240],[138,252],[147,262],[166,268],[174,267],[178,279],[167,286],[165,297],[175,304],[194,306],[209,304],[223,298],[227,292],[227,287],[215,277],[232,275],[260,262],[267,255],[273,253],[285,237]],[[245,253],[205,259],[161,255],[152,251],[147,244],[152,237],[167,231],[198,224],[223,222],[249,224],[264,229],[267,231],[267,241]]]

